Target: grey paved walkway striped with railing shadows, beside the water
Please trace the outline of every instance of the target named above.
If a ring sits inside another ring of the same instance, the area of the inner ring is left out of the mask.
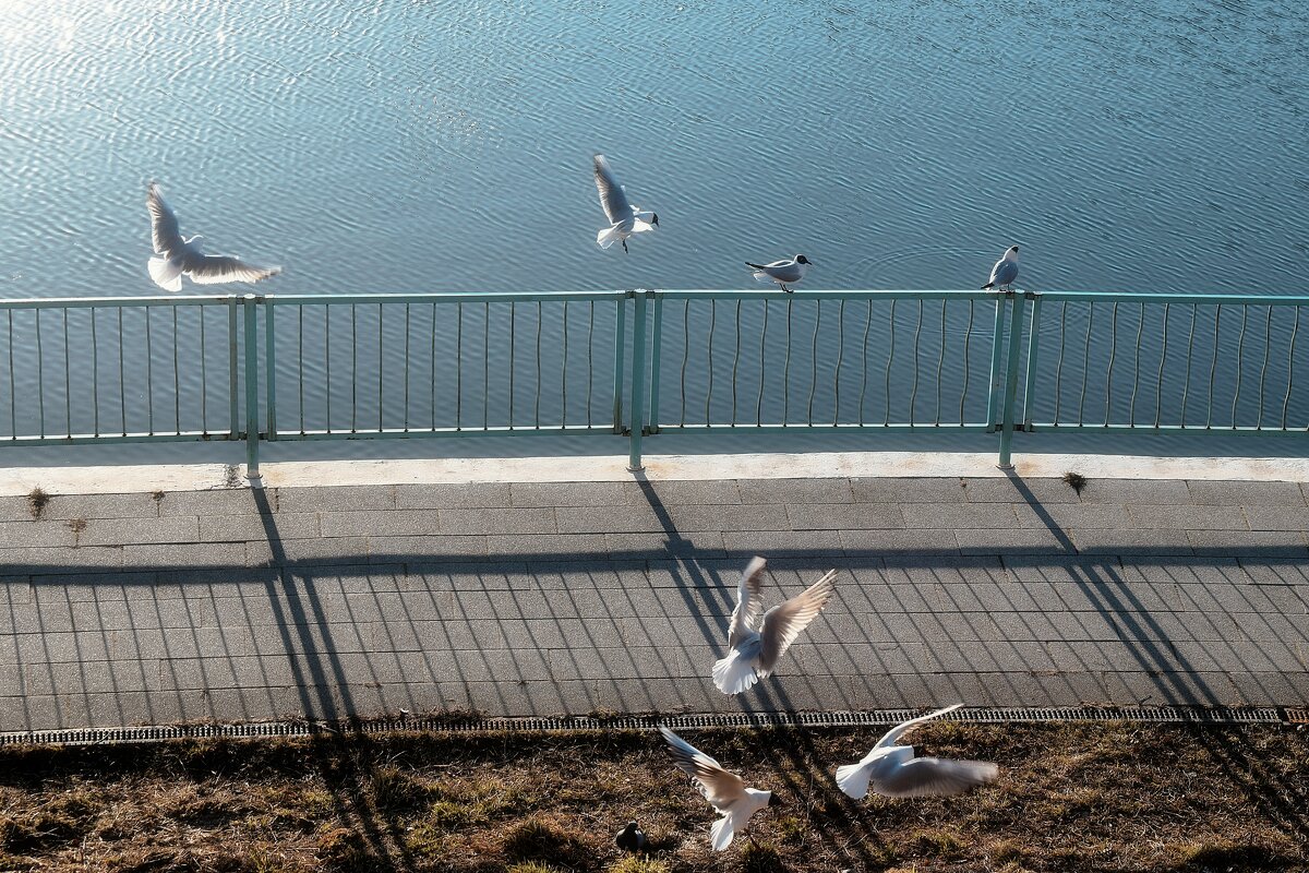
[[[0,730],[1309,703],[1302,484],[1079,493],[1050,475],[787,479],[800,467],[778,461],[766,478],[719,461],[715,479],[652,463],[640,482],[476,480],[504,478],[495,462],[410,484],[270,471],[254,491],[55,495],[38,517],[0,496]],[[709,665],[753,554],[768,603],[830,567],[838,597],[774,678],[725,698]]]

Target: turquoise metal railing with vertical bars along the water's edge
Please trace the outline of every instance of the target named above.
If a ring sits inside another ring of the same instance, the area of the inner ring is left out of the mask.
[[[254,478],[260,441],[620,433],[639,470],[656,433],[953,429],[999,433],[1008,467],[1018,431],[1305,435],[1304,306],[974,291],[0,300],[0,445],[243,440]]]

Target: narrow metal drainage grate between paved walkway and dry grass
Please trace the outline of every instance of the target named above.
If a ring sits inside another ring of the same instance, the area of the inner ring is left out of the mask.
[[[851,712],[734,712],[677,715],[558,716],[530,719],[483,719],[432,716],[373,719],[368,721],[251,721],[240,724],[181,724],[135,728],[75,728],[0,733],[0,746],[96,745],[166,742],[175,739],[253,739],[259,737],[310,737],[321,734],[386,734],[398,732],[471,733],[511,730],[517,733],[565,730],[674,730],[699,728],[861,728],[893,725],[923,709],[870,709]],[[995,724],[1009,721],[1153,721],[1189,724],[1309,724],[1309,709],[1274,707],[1052,707],[956,709],[944,721]]]

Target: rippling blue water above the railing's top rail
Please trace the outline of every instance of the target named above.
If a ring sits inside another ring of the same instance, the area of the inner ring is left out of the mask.
[[[274,293],[1306,293],[1309,20],[1141,7],[8,0],[0,297],[158,293],[151,179]]]

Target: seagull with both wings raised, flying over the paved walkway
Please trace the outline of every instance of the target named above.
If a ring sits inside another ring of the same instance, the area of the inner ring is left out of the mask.
[[[732,652],[713,664],[713,685],[723,694],[740,694],[772,673],[778,658],[800,632],[809,627],[818,611],[835,593],[836,571],[800,592],[789,601],[774,606],[759,618],[759,588],[763,585],[762,558],[753,558],[741,573],[737,606],[728,626],[728,648]]]

